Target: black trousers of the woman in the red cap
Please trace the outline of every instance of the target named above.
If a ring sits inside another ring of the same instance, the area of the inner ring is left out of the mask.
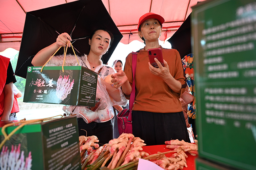
[[[188,132],[183,112],[152,113],[132,111],[133,135],[148,146],[165,144],[172,139],[188,142]]]

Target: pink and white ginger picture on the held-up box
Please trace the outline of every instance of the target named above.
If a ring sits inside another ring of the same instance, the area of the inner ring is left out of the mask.
[[[62,77],[61,75],[57,81],[56,95],[60,100],[64,100],[71,93],[74,86],[74,79],[70,82],[69,75]]]

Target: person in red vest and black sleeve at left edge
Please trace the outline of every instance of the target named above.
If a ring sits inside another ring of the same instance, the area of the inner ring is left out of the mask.
[[[10,59],[0,55],[0,118],[8,121],[14,102],[13,83],[16,82]]]

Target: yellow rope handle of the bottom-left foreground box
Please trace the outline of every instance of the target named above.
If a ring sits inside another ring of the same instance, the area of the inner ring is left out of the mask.
[[[57,116],[63,116],[63,115],[57,115]],[[10,140],[11,136],[17,132],[20,128],[22,128],[23,126],[27,125],[27,124],[31,124],[31,123],[36,123],[36,122],[42,122],[44,120],[48,120],[48,119],[52,119],[54,117],[57,117],[57,116],[53,116],[53,117],[48,117],[48,118],[44,118],[44,119],[34,119],[34,120],[25,120],[25,121],[19,121],[19,122],[14,122],[14,123],[11,123],[11,124],[7,124],[7,125],[4,125],[2,127],[2,134],[4,135],[4,140],[1,142],[0,144],[0,150],[2,149],[2,147],[4,146],[5,142],[7,140]],[[9,127],[9,126],[12,126],[12,125],[16,125],[16,124],[21,124],[19,125],[18,127],[16,127],[9,135],[7,135],[7,133],[5,132],[5,128]]]

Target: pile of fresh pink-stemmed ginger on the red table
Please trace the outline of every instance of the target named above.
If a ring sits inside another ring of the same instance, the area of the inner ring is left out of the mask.
[[[166,148],[172,148],[175,152],[171,157],[166,157],[165,153],[158,153],[149,155],[143,151],[143,146],[146,144],[139,137],[134,137],[132,134],[123,133],[117,139],[112,139],[109,143],[103,146],[98,145],[98,138],[96,136],[80,136],[80,152],[81,152],[81,163],[82,169],[90,170],[90,167],[99,166],[106,167],[107,169],[113,170],[120,166],[133,163],[134,166],[138,166],[138,160],[140,158],[147,159],[161,168],[166,170],[178,170],[187,167],[185,152],[189,152],[192,155],[197,154],[197,145],[188,143],[185,141],[171,140],[166,141]],[[96,163],[96,162],[100,163]],[[98,165],[100,164],[100,165]],[[93,165],[89,166],[87,165]],[[93,168],[92,168],[93,169]]]

